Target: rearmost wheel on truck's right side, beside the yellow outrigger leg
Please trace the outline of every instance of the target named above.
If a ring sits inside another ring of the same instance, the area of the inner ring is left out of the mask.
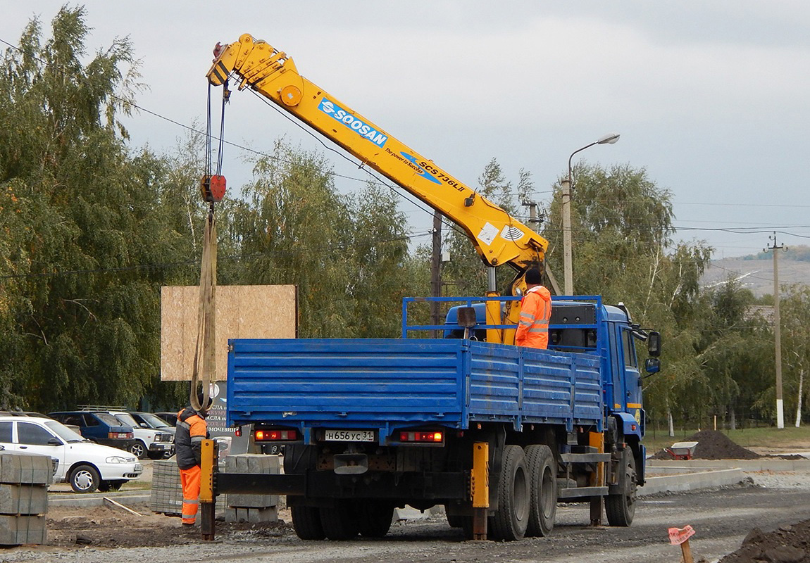
[[[529,480],[526,458],[520,446],[504,447],[498,478],[498,510],[489,519],[495,540],[520,540],[529,523]]]

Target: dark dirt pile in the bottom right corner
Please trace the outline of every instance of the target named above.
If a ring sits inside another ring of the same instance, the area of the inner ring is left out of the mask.
[[[765,533],[748,532],[740,549],[719,563],[810,563],[810,520]]]

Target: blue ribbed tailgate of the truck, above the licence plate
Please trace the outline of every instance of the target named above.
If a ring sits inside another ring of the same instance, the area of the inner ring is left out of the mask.
[[[463,341],[233,340],[228,423],[458,426]]]

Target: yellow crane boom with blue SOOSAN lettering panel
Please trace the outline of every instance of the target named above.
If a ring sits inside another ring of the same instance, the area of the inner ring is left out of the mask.
[[[508,264],[518,277],[532,265],[543,264],[546,239],[298,74],[286,53],[245,33],[216,55],[207,74],[211,85],[222,86],[235,75],[240,90],[253,88],[456,222],[484,264]]]

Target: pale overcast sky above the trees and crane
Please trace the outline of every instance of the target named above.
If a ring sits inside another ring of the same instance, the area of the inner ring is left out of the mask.
[[[3,2],[0,39],[61,2]],[[217,41],[249,32],[301,74],[467,184],[496,158],[514,181],[531,171],[548,202],[569,155],[646,168],[675,202],[678,238],[717,257],[761,250],[770,231],[810,243],[810,4],[807,2],[83,2],[91,51],[130,36],[149,89],[139,105],[203,123]],[[135,146],[170,150],[181,127],[142,112]],[[228,108],[228,140],[270,151],[276,138],[321,145],[246,92]],[[230,186],[249,180],[226,149]],[[337,156],[335,171],[364,178]],[[357,182],[339,180],[343,190]],[[403,204],[414,231],[427,212]],[[748,234],[719,231],[755,227]],[[416,239],[427,241],[427,238]]]

